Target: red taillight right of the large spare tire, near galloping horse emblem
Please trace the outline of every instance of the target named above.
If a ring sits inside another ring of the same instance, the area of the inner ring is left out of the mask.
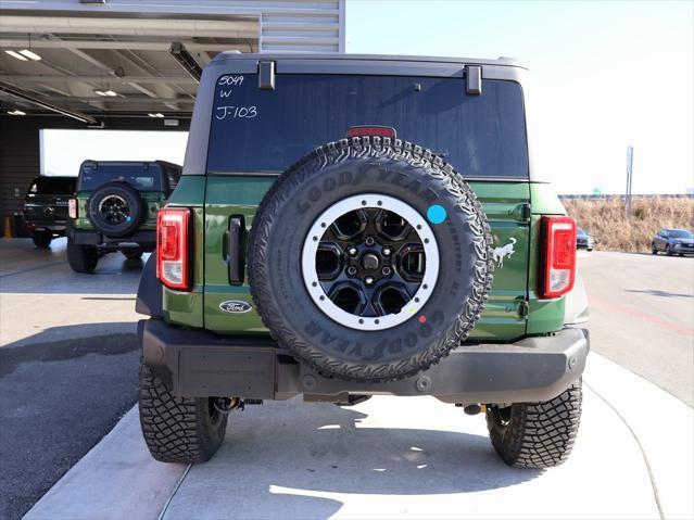
[[[542,217],[544,237],[541,297],[559,297],[573,289],[576,279],[576,220],[572,217]]]

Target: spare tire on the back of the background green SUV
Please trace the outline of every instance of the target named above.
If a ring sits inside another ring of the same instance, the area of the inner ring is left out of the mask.
[[[108,237],[127,237],[142,220],[140,193],[125,182],[108,182],[97,188],[87,203],[87,215],[97,230]]]

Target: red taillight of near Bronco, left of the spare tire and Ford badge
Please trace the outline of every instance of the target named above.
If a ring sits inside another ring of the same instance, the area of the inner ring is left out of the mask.
[[[190,210],[156,214],[156,278],[171,289],[190,290]]]

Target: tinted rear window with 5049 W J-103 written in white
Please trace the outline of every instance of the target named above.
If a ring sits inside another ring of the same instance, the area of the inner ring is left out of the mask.
[[[467,177],[528,177],[522,91],[484,80],[466,96],[462,77],[257,75],[217,80],[207,155],[210,173],[281,172],[351,126],[395,128],[398,137],[440,154]]]

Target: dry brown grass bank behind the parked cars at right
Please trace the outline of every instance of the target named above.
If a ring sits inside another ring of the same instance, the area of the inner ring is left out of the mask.
[[[660,228],[694,229],[694,199],[634,198],[631,218],[620,198],[564,200],[569,215],[592,234],[596,249],[645,253]]]

